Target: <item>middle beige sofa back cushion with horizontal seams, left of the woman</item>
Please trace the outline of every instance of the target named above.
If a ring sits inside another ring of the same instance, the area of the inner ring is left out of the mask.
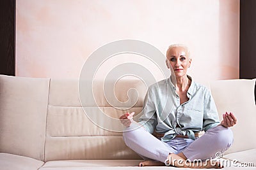
[[[105,82],[108,83],[108,82]],[[106,101],[102,83],[94,83],[94,99],[86,104],[86,111],[93,113],[104,122],[102,113],[119,118],[127,111],[140,113],[143,99],[147,92],[140,80],[120,81],[108,90],[115,91],[118,100],[127,101],[127,90],[137,89],[140,96],[136,104],[127,110],[112,107]],[[79,101],[79,81],[51,79],[49,89],[49,106],[45,139],[45,160],[68,159],[141,159],[130,150],[122,139],[122,132],[112,132],[93,124],[83,110]],[[113,92],[114,94],[114,92]],[[83,97],[87,97],[86,94]],[[95,101],[95,102],[94,102]]]

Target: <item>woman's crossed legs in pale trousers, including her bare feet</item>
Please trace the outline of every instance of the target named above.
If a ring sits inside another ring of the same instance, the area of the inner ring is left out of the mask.
[[[168,164],[175,167],[190,168],[221,168],[220,162],[207,162],[207,159],[214,158],[216,152],[225,152],[233,142],[233,134],[230,129],[218,125],[209,129],[205,134],[193,141],[182,152],[176,153],[172,147],[149,134],[142,127],[132,130],[136,125],[131,125],[131,131],[124,132],[125,144],[150,160],[140,162],[139,166],[164,166],[166,159]],[[198,152],[200,151],[200,152]],[[186,160],[204,160],[202,164],[187,164]],[[179,161],[173,161],[179,160]],[[205,161],[206,160],[206,161]]]

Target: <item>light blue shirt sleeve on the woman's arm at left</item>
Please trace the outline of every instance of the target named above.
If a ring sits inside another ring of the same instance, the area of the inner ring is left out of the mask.
[[[152,134],[156,128],[157,118],[156,118],[156,107],[154,101],[152,101],[152,92],[148,89],[145,96],[142,115],[139,118],[139,124]]]

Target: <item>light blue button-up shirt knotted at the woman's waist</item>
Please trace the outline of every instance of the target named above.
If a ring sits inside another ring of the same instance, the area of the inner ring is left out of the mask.
[[[220,124],[218,111],[209,90],[195,83],[190,76],[189,100],[180,104],[171,78],[148,87],[139,124],[151,134],[164,133],[161,141],[170,141],[177,134],[195,139],[195,132],[208,131]]]

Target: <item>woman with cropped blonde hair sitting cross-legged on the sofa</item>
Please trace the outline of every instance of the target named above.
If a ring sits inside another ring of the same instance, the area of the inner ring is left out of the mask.
[[[187,75],[191,57],[186,46],[170,45],[166,66],[172,74],[148,88],[139,122],[132,120],[134,113],[120,117],[125,144],[144,159],[139,166],[223,167],[209,160],[232,145],[228,127],[236,117],[226,112],[219,121],[211,92]],[[205,133],[199,138],[200,131]],[[194,160],[202,162],[191,164]]]

